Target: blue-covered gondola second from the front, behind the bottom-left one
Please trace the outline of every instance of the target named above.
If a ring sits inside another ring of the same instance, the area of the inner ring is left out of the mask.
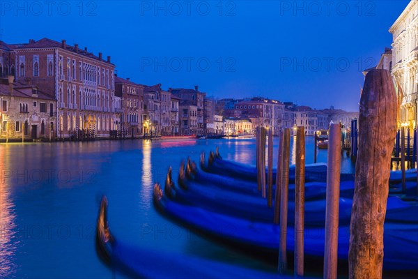
[[[257,252],[270,257],[277,257],[279,249],[278,225],[258,223],[227,216],[202,209],[173,202],[159,184],[155,184],[153,200],[156,208],[177,222],[187,225],[196,232],[212,239],[235,246],[240,250]],[[417,271],[418,266],[418,225],[404,223],[385,223],[385,257],[384,271]],[[349,226],[339,227],[339,259],[347,261],[350,239]],[[325,245],[325,229],[320,227],[305,227],[304,253],[307,257],[323,258]],[[288,227],[287,248],[294,249],[294,229]]]

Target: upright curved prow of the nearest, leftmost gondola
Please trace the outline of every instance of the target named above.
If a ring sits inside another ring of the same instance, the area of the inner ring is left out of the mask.
[[[107,265],[111,264],[110,245],[114,243],[114,237],[111,235],[107,223],[107,198],[105,196],[102,197],[102,202],[100,203],[95,238],[96,251],[100,259]]]

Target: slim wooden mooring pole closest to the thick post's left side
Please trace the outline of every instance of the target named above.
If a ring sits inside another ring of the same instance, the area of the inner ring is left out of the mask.
[[[324,278],[336,278],[338,263],[341,126],[331,124],[328,137],[327,197],[325,209]]]

